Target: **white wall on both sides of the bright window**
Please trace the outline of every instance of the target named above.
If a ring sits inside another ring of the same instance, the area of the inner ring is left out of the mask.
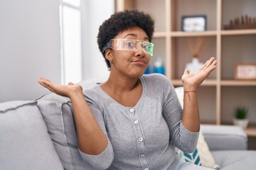
[[[82,45],[84,79],[107,70],[96,37],[102,21],[114,11],[114,0],[88,4],[82,35],[87,44]],[[37,83],[41,76],[60,84],[59,1],[0,0],[0,102],[48,93]]]

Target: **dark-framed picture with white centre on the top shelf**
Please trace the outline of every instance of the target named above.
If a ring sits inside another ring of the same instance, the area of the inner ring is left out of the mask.
[[[181,30],[187,31],[187,32],[205,31],[206,15],[182,16]]]

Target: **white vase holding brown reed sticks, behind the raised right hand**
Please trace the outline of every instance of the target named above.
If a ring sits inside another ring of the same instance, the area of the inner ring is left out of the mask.
[[[204,38],[198,37],[196,40],[188,38],[188,45],[193,59],[192,62],[186,64],[186,69],[189,69],[191,73],[196,73],[198,69],[203,67],[203,63],[199,62],[198,57],[203,50]]]

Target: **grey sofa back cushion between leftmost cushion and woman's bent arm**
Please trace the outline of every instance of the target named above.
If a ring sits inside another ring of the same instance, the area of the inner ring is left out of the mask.
[[[78,139],[69,98],[57,94],[46,94],[36,99],[39,110],[46,122],[56,152],[65,169],[90,170],[78,150]]]

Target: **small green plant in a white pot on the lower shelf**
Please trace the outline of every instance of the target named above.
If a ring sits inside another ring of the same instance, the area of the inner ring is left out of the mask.
[[[249,123],[248,108],[246,108],[245,106],[238,106],[237,108],[235,108],[233,123],[234,125],[238,125],[243,129],[247,128],[247,125]]]

